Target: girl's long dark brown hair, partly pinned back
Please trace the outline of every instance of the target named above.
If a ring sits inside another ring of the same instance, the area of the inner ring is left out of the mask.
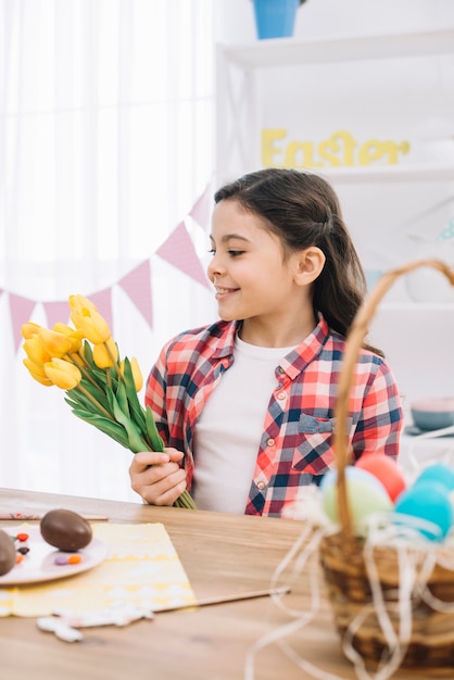
[[[325,253],[325,266],[313,284],[314,312],[346,336],[364,300],[366,279],[332,187],[310,172],[270,167],[225,185],[214,200],[235,200],[261,217],[287,252],[316,245]]]

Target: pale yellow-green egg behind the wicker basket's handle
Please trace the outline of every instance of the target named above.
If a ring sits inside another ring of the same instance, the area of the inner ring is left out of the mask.
[[[335,483],[336,479],[337,471],[330,470],[320,484],[323,507],[327,516],[335,522],[338,521],[338,488]],[[387,490],[370,473],[349,466],[345,468],[345,484],[349,508],[354,524],[361,522],[374,513],[392,511],[393,503]]]

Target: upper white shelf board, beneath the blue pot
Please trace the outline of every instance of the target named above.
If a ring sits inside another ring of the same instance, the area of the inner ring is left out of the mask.
[[[454,30],[325,40],[274,38],[247,45],[220,45],[218,48],[230,63],[242,68],[436,56],[454,52]]]

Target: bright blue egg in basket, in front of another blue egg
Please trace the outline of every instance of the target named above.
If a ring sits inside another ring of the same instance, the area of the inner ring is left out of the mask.
[[[404,515],[432,522],[433,529],[423,526],[415,528],[432,541],[443,540],[453,521],[453,507],[446,487],[432,480],[421,480],[413,484],[401,493],[395,503],[398,524],[405,525]]]

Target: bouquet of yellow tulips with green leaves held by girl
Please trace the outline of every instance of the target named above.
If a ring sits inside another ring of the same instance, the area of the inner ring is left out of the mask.
[[[71,295],[70,310],[74,328],[60,323],[52,330],[31,322],[22,326],[29,374],[41,385],[65,390],[77,417],[133,453],[163,451],[152,411],[137,396],[143,383],[137,360],[119,360],[109,324],[90,300]],[[188,491],[175,505],[196,507]]]

